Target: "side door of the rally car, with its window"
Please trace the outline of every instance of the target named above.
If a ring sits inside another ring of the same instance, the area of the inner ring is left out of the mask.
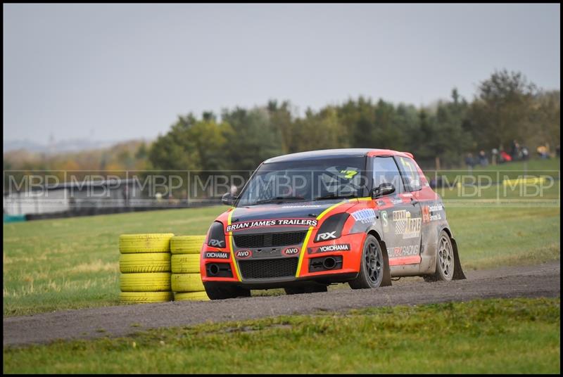
[[[391,183],[395,187],[395,192],[374,199],[381,217],[389,264],[419,263],[420,207],[406,189],[396,160],[393,156],[374,157],[372,174],[374,188],[382,183]]]

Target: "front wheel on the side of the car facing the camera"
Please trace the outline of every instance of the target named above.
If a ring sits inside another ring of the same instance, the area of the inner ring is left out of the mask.
[[[387,255],[381,251],[379,241],[371,234],[368,234],[365,238],[358,277],[353,281],[349,281],[348,285],[352,289],[377,288],[379,286],[391,285]]]

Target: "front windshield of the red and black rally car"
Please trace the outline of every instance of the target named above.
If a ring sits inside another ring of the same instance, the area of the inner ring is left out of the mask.
[[[366,196],[365,157],[262,164],[237,206]]]

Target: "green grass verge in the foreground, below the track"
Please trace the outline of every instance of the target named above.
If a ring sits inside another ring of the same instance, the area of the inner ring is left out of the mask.
[[[559,373],[560,312],[475,300],[167,328],[5,348],[4,373]]]

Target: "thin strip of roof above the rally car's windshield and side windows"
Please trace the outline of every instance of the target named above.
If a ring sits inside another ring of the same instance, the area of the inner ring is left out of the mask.
[[[323,149],[321,151],[307,151],[299,153],[290,153],[289,155],[279,155],[265,160],[263,163],[271,162],[289,162],[303,160],[322,160],[324,158],[352,158],[362,157],[365,155],[404,155],[412,158],[410,153],[391,151],[390,149],[375,148],[341,148],[341,149]]]

